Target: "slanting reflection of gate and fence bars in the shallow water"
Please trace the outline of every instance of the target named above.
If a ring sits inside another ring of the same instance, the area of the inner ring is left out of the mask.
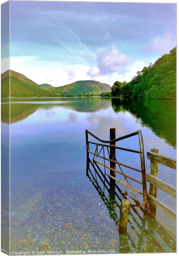
[[[87,164],[87,177],[100,195],[116,226],[120,224],[120,205],[126,198],[117,184],[110,185],[108,177],[92,161]],[[175,252],[176,242],[169,233],[154,219],[143,215],[131,206],[126,233],[118,232],[118,253],[155,253]]]

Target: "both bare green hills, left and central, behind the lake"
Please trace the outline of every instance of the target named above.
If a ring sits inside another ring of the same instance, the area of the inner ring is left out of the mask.
[[[108,92],[109,84],[99,81],[76,81],[61,87],[53,87],[50,84],[36,84],[23,74],[10,70],[10,96],[11,97],[50,97],[66,95],[100,95]],[[1,97],[9,97],[9,70],[1,74]]]

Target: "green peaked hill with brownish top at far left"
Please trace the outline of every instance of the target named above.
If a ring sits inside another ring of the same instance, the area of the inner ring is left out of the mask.
[[[54,93],[40,88],[34,81],[23,74],[10,70],[11,97],[42,97],[55,96]],[[9,70],[1,74],[1,97],[9,97]]]

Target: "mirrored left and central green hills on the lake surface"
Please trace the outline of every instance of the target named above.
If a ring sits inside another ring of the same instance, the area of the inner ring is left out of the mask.
[[[38,109],[48,109],[48,108],[70,108],[77,112],[96,112],[100,109],[105,109],[110,107],[109,99],[100,98],[75,98],[75,99],[14,99],[11,101],[10,110],[10,122],[15,123],[23,119],[26,119],[32,113],[35,113]],[[1,104],[1,120],[2,122],[9,122],[9,105]]]

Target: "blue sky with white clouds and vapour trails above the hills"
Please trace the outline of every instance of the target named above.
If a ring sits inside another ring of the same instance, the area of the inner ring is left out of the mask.
[[[173,3],[11,1],[10,15],[10,68],[39,84],[130,81],[176,46]]]

